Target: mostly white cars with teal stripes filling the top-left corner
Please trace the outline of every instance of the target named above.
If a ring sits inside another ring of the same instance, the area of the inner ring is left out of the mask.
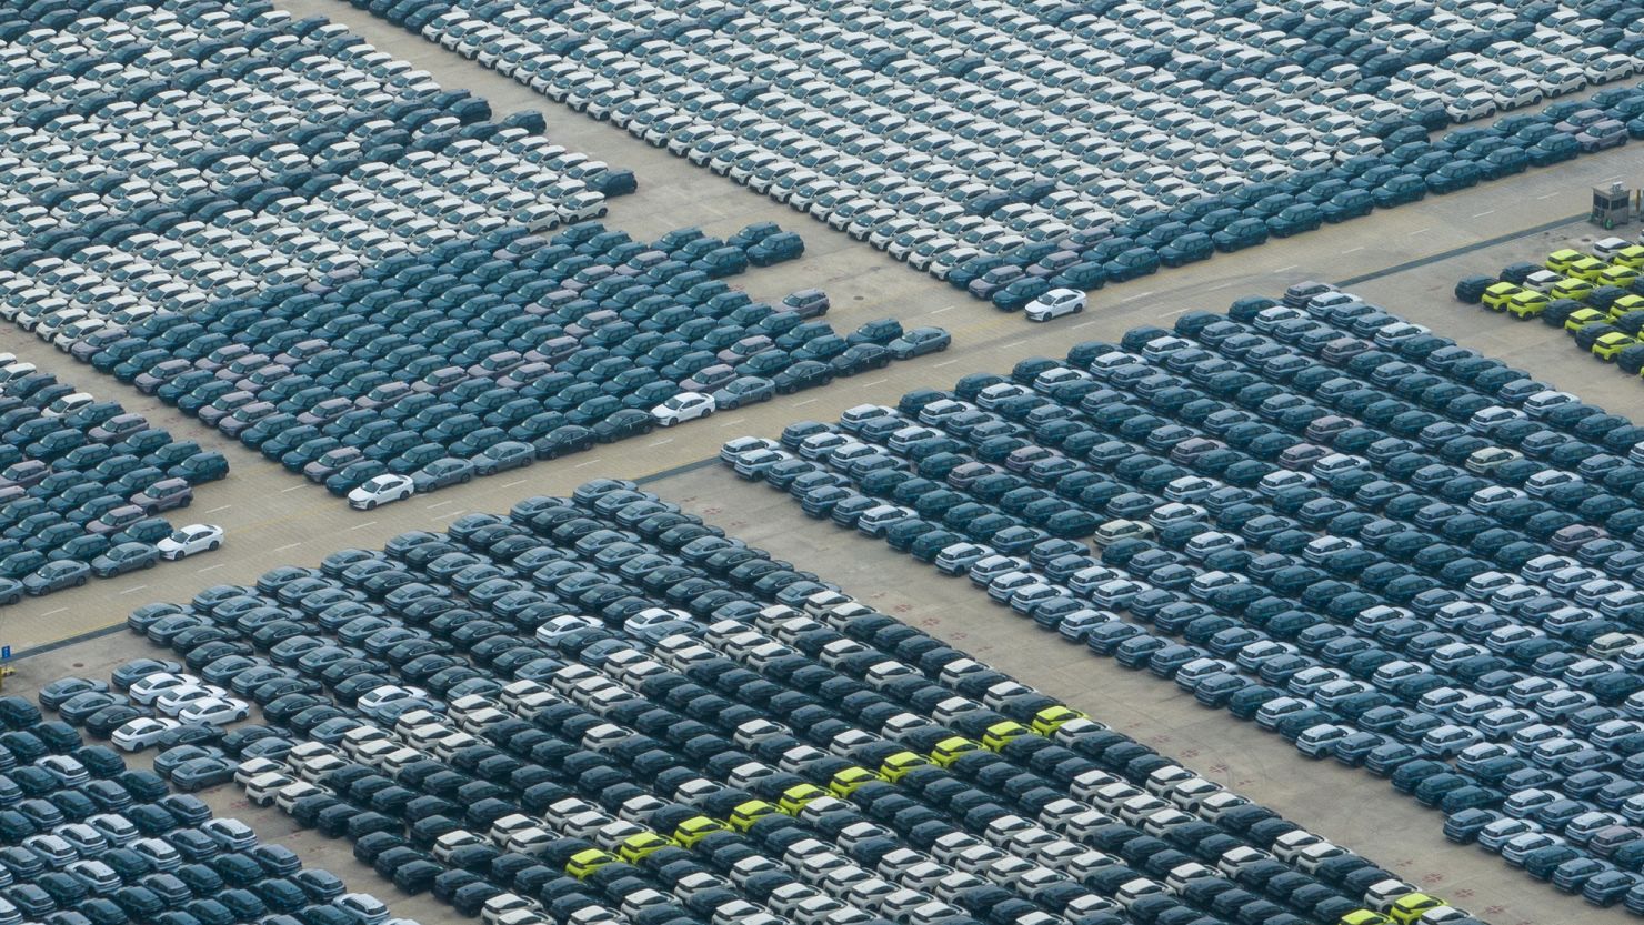
[[[156,314],[605,214],[593,186],[620,171],[541,138],[503,153],[538,113],[488,122],[483,100],[322,16],[179,7],[43,3],[0,21],[0,317],[61,350],[87,358]]]

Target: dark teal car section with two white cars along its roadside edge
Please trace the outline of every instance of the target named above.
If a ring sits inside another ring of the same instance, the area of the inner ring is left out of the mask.
[[[156,314],[85,358],[375,506],[947,348],[893,319],[840,337],[824,292],[768,306],[725,279],[801,250],[774,225],[488,235]]]

